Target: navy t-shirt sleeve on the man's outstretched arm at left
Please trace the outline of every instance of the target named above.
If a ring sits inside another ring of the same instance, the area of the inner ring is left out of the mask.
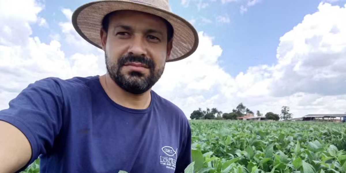
[[[0,111],[0,120],[17,127],[31,145],[30,161],[19,171],[53,147],[54,138],[62,126],[62,108],[60,85],[47,78],[28,85],[9,102],[8,109]]]

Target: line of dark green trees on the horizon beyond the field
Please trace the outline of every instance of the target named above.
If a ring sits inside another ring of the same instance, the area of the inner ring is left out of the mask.
[[[238,106],[232,110],[232,112],[229,113],[223,113],[222,111],[218,110],[217,108],[207,108],[206,110],[202,110],[202,108],[198,108],[198,110],[194,110],[191,113],[190,118],[191,119],[236,119],[238,117],[243,117],[245,115],[248,115],[248,113],[254,114],[254,112],[246,106],[244,106],[243,103],[239,103]],[[262,117],[263,114],[257,110],[256,112],[257,117]],[[265,114],[265,118],[268,120],[275,120],[278,121],[280,119],[282,120],[288,120],[293,117],[293,114],[290,113],[290,108],[288,106],[283,106],[281,109],[281,114],[275,114],[273,112],[267,112]]]

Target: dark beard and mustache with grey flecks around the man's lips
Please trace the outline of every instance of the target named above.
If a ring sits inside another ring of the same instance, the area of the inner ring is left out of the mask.
[[[116,63],[112,62],[108,58],[106,52],[104,57],[106,60],[107,72],[111,79],[120,86],[120,88],[133,94],[142,94],[152,88],[152,86],[161,78],[165,68],[165,66],[157,68],[150,58],[143,56],[121,56]],[[145,75],[142,72],[137,71],[130,71],[127,74],[122,73],[122,67],[126,63],[131,62],[138,62],[146,65],[149,69],[149,74]]]

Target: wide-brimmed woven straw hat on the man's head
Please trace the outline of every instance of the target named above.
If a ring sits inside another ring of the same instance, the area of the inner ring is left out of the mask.
[[[182,60],[198,46],[198,34],[185,19],[170,11],[168,0],[101,0],[89,2],[73,12],[72,24],[79,35],[101,48],[100,29],[104,16],[117,10],[136,10],[166,19],[173,26],[173,48],[167,62]]]

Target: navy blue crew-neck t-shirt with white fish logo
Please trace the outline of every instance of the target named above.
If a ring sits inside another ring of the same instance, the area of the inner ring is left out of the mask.
[[[0,120],[28,138],[29,163],[39,156],[40,173],[184,172],[189,121],[154,91],[151,97],[147,109],[129,109],[108,97],[99,76],[47,78],[11,100]]]

